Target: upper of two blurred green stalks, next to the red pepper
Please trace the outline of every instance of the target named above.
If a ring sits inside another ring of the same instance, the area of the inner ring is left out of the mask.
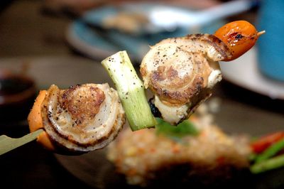
[[[284,140],[280,140],[275,144],[269,146],[263,153],[256,156],[256,163],[264,161],[268,158],[275,156],[279,151],[283,150],[284,148]]]

